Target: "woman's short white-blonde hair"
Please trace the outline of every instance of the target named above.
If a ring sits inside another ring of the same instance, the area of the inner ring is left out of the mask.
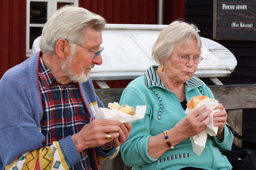
[[[194,24],[189,24],[181,20],[172,22],[159,34],[152,47],[152,59],[159,65],[161,59],[166,61],[174,48],[186,47],[191,40],[196,40],[197,50],[201,52],[200,30]]]

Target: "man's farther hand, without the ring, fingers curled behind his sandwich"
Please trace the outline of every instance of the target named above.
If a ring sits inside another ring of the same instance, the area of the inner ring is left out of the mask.
[[[103,145],[102,147],[108,147],[108,146],[115,146],[118,147],[121,144],[123,144],[128,138],[129,138],[129,134],[131,132],[131,128],[132,125],[130,122],[127,123],[121,123],[120,125],[121,130],[118,132],[119,133],[119,137],[115,138],[114,140],[106,143],[105,145]],[[109,133],[111,135],[111,133]]]

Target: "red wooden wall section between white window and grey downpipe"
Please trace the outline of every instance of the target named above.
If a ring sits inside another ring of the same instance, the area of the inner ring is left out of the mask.
[[[157,24],[157,0],[89,0],[80,6],[112,24]]]

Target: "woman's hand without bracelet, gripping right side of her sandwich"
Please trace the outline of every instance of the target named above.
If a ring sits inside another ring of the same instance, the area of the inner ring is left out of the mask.
[[[213,114],[213,121],[216,121],[216,122],[214,122],[214,126],[219,126],[218,133],[217,133],[216,137],[221,138],[224,135],[223,129],[227,122],[228,114],[227,114],[226,110],[224,109],[223,105],[220,103],[214,110],[216,110],[216,109],[220,109],[220,111],[215,112]]]

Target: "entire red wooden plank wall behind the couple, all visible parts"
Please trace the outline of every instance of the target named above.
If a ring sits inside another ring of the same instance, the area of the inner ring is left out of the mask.
[[[165,1],[164,24],[185,18],[185,0]],[[79,0],[80,7],[114,24],[157,24],[157,0]],[[26,0],[0,1],[0,78],[26,59]],[[131,80],[106,81],[111,88],[126,87]],[[94,87],[99,86],[94,82]]]

